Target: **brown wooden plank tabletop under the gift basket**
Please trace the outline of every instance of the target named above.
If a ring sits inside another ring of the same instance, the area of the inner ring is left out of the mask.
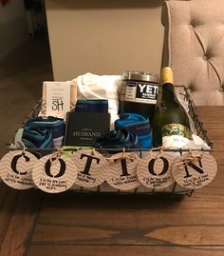
[[[215,180],[192,197],[94,196],[0,184],[0,255],[224,255],[224,107],[197,108]]]

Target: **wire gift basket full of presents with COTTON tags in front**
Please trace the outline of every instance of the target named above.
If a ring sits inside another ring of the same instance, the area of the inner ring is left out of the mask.
[[[175,91],[194,131],[191,140],[184,147],[153,144],[151,120],[160,90],[156,74],[137,71],[123,76],[87,73],[63,83],[44,82],[42,99],[16,131],[0,162],[3,182],[48,193],[69,189],[191,195],[207,186],[216,173],[210,154],[213,145],[184,86],[175,86]],[[172,126],[173,142],[179,140],[177,128],[182,125]],[[178,143],[186,142],[182,137]]]

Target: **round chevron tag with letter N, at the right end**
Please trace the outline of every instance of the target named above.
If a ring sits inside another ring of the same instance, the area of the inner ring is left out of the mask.
[[[210,184],[215,178],[217,165],[208,152],[197,152],[195,157],[189,153],[178,157],[172,170],[174,179],[181,187],[199,188]]]

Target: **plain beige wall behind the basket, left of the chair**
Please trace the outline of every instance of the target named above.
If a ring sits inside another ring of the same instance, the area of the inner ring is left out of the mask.
[[[86,71],[159,72],[162,0],[46,0],[55,80]]]

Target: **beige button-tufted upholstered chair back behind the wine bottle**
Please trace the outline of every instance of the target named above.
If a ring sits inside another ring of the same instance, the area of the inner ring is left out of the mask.
[[[196,105],[224,105],[224,0],[164,1],[161,67],[174,70]]]

